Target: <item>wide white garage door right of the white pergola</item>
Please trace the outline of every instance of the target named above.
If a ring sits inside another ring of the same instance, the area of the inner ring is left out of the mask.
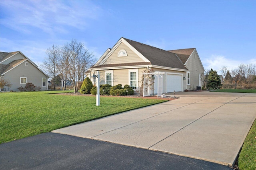
[[[182,89],[182,75],[167,74],[166,75],[166,92],[181,92]]]

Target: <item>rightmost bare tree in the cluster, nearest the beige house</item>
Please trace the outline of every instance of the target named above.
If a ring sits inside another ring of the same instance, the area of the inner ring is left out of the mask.
[[[93,55],[88,52],[88,49],[84,49],[84,44],[72,40],[70,43],[65,45],[65,48],[69,52],[69,70],[68,75],[72,80],[72,86],[74,92],[78,92],[79,81],[82,80],[84,76],[84,69],[92,65]]]

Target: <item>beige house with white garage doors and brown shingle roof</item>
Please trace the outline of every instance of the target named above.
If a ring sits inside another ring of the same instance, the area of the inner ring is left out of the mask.
[[[201,86],[201,74],[204,74],[196,48],[166,51],[123,37],[85,74],[93,80],[93,74],[99,71],[100,84],[128,84],[136,92],[146,68],[161,73],[162,93],[196,90]],[[157,75],[154,81],[154,92],[151,93],[156,94]]]

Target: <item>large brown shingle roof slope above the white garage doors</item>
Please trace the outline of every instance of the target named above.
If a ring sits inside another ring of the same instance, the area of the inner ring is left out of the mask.
[[[124,39],[130,45],[132,45],[132,47],[134,47],[139,53],[146,57],[146,59],[148,59],[150,63],[153,65],[187,70],[184,64],[174,53],[156,47],[152,47],[150,45],[146,45],[143,43],[132,41],[130,39]]]

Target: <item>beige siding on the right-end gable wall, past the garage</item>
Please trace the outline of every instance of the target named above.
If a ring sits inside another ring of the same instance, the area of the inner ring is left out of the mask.
[[[190,85],[187,85],[187,89],[196,90],[196,86],[199,85],[199,74],[204,74],[204,68],[200,62],[200,59],[196,53],[196,50],[194,50],[194,52],[191,54],[191,56],[189,57],[185,65],[190,72]],[[186,78],[186,81],[187,81],[187,78]]]

